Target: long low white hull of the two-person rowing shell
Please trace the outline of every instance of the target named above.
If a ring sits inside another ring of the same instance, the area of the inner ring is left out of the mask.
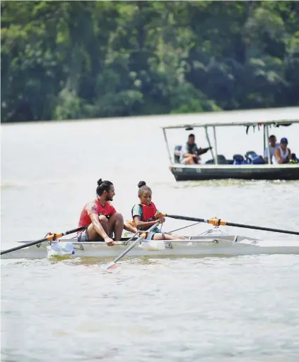
[[[74,254],[69,258],[115,258],[124,251],[129,243],[118,241],[115,246],[107,246],[103,242],[78,243],[76,239],[61,239],[61,245],[71,242]],[[41,243],[38,246],[13,251],[1,255],[1,259],[14,258],[47,258],[50,243]],[[127,257],[136,256],[232,256],[232,255],[258,255],[258,254],[299,254],[299,241],[262,241],[245,236],[207,235],[192,236],[189,240],[164,241],[165,246],[160,250],[147,250],[145,244],[135,246]],[[148,245],[146,245],[148,246]]]

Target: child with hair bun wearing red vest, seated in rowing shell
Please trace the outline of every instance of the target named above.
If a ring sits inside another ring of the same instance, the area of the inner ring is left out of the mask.
[[[156,217],[158,212],[156,205],[152,202],[151,188],[146,186],[144,181],[138,183],[138,197],[139,204],[133,206],[131,215],[133,217],[134,225],[140,231],[146,231],[156,222],[163,224],[165,217]],[[185,240],[184,236],[163,233],[158,227],[153,229],[149,234],[146,234],[146,240]]]

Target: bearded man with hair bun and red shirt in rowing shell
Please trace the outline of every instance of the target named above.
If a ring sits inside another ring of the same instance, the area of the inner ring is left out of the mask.
[[[89,226],[78,233],[78,241],[103,240],[108,246],[113,246],[112,233],[115,234],[117,241],[121,239],[123,229],[136,233],[136,227],[131,226],[129,222],[124,222],[122,214],[119,214],[111,203],[115,196],[115,187],[112,182],[98,180],[96,194],[97,198],[87,203],[81,212],[78,226]]]

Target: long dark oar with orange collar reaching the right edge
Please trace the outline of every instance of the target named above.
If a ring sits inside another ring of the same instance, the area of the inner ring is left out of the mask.
[[[180,220],[188,220],[194,222],[206,222],[208,224],[212,224],[214,227],[218,226],[228,226],[228,227],[244,227],[246,229],[256,229],[256,230],[264,230],[264,231],[273,231],[275,233],[283,233],[283,234],[292,234],[299,235],[299,231],[291,231],[291,230],[282,230],[282,229],[273,229],[271,227],[255,227],[254,225],[246,225],[246,224],[236,224],[235,222],[225,222],[221,219],[213,218],[213,219],[198,219],[197,217],[188,217],[188,216],[180,216],[180,215],[168,215],[163,213],[156,214],[156,217],[171,217],[172,219],[180,219]]]

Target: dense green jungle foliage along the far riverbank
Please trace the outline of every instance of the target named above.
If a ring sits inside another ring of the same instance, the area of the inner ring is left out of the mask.
[[[297,1],[1,1],[1,121],[299,104]]]

